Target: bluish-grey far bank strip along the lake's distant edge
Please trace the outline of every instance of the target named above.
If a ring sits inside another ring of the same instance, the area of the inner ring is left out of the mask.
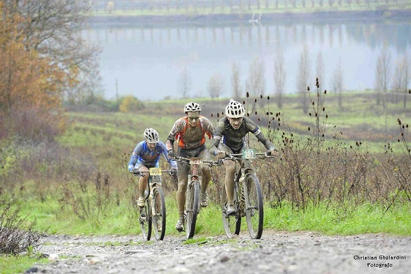
[[[253,14],[181,14],[181,15],[96,15],[88,18],[91,25],[121,25],[141,23],[144,25],[184,24],[203,25],[212,23],[247,22]],[[411,10],[369,10],[369,11],[332,11],[310,13],[271,13],[262,14],[261,22],[273,21],[390,21],[395,19],[411,21]]]

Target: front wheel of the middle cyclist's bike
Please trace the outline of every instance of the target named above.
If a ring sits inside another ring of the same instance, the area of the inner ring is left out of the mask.
[[[195,223],[199,213],[200,183],[192,181],[188,184],[188,197],[186,198],[186,238],[190,239],[195,233]]]

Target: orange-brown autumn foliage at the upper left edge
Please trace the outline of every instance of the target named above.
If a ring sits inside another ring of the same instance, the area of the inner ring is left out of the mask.
[[[25,34],[24,18],[0,2],[0,138],[50,139],[62,130],[60,103],[64,85],[75,69],[64,71],[58,62],[35,47]]]

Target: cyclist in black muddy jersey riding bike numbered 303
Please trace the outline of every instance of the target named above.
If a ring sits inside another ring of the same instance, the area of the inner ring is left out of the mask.
[[[248,149],[245,141],[247,133],[251,132],[269,150],[269,154],[277,153],[273,143],[264,137],[258,125],[244,116],[245,108],[238,101],[230,101],[225,107],[225,117],[219,121],[212,139],[210,153],[219,159],[226,154],[241,153],[242,149]],[[225,191],[227,192],[227,214],[236,213],[233,206],[234,197],[234,172],[236,162],[224,160],[225,166]]]

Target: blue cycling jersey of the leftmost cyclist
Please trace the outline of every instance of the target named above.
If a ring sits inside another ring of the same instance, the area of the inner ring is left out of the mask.
[[[136,145],[136,148],[132,153],[132,157],[130,158],[128,164],[128,169],[131,171],[138,164],[144,164],[148,168],[158,167],[161,154],[164,156],[166,161],[169,162],[171,168],[177,168],[177,162],[169,159],[169,154],[167,153],[164,142],[158,141],[155,145],[155,149],[151,151],[149,147],[147,147],[147,142],[141,141]]]

